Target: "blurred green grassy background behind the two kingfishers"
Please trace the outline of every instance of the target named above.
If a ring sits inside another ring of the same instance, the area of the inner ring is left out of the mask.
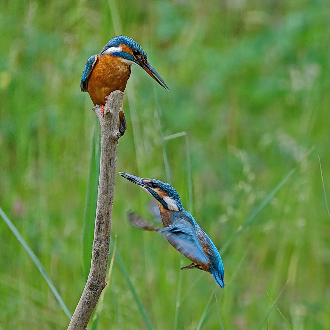
[[[267,293],[295,330],[330,328],[318,160],[329,197],[329,8],[326,0],[1,1],[0,206],[71,313],[88,275],[99,151],[80,79],[87,58],[123,34],[147,51],[170,92],[132,68],[117,170],[171,181],[217,248],[229,245],[224,290],[210,274],[180,271],[189,261],[163,237],[128,224],[129,209],[152,219],[149,196],[117,176],[111,252],[116,241],[121,259],[98,329],[289,329]],[[67,316],[2,220],[0,249],[0,329],[65,329]]]

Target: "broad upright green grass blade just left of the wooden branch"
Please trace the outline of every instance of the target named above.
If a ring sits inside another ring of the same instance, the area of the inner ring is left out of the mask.
[[[85,281],[87,281],[88,278],[90,263],[92,259],[97,190],[100,177],[100,148],[100,126],[95,122],[82,228],[82,271]]]

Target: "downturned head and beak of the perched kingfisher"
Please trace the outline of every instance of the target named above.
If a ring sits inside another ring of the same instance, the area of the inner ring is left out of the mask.
[[[136,64],[145,70],[156,82],[169,90],[165,82],[147,60],[147,53],[132,38],[118,36],[111,39],[100,52],[100,56],[108,54],[120,57],[127,65]]]

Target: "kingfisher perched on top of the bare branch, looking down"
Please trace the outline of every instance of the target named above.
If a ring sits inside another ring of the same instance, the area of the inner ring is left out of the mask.
[[[156,82],[169,90],[163,79],[147,60],[147,53],[132,38],[117,36],[111,39],[99,54],[88,58],[82,72],[80,89],[88,92],[94,106],[101,106],[104,117],[104,106],[111,92],[124,91],[131,74],[132,64],[140,66]],[[124,135],[126,119],[121,105],[119,112],[119,133]]]

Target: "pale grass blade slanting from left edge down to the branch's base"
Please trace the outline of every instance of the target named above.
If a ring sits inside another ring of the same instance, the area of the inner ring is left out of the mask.
[[[13,232],[13,234],[17,238],[18,242],[22,245],[22,247],[25,249],[25,251],[27,252],[27,254],[30,256],[30,258],[32,259],[32,261],[34,262],[34,264],[39,269],[41,275],[43,276],[43,278],[45,279],[45,281],[49,285],[50,290],[53,292],[54,296],[56,297],[56,299],[57,299],[58,303],[60,304],[60,306],[61,306],[62,310],[64,311],[64,313],[69,317],[69,319],[71,319],[72,315],[70,314],[68,308],[66,307],[66,305],[65,305],[62,297],[60,296],[60,294],[56,290],[55,285],[50,280],[48,274],[46,273],[45,268],[43,267],[43,265],[41,264],[41,262],[39,261],[39,259],[37,258],[37,256],[34,254],[34,252],[27,245],[27,243],[23,239],[22,235],[18,232],[18,230],[14,226],[13,222],[10,221],[10,219],[8,218],[8,216],[5,214],[5,212],[2,210],[1,207],[0,207],[0,215],[2,216],[2,218],[4,219],[4,221],[6,222],[6,224],[8,225],[9,229]]]

